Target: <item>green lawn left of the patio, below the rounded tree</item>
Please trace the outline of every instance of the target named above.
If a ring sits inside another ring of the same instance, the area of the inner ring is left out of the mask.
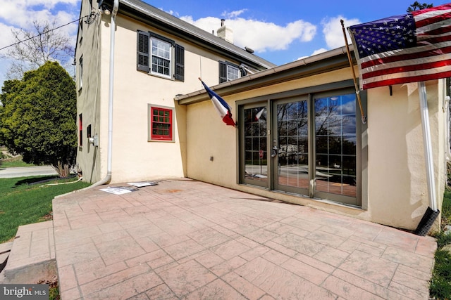
[[[49,182],[38,183],[49,180]],[[47,183],[76,181],[57,180],[55,176],[33,176],[0,179],[0,243],[11,240],[20,225],[51,219],[51,201],[56,195],[85,188],[89,183],[41,186]]]

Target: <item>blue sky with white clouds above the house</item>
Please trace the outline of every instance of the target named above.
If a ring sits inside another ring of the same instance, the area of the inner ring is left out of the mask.
[[[438,6],[450,0],[427,1]],[[221,27],[233,30],[234,44],[252,48],[257,56],[283,65],[299,58],[345,46],[345,27],[393,15],[403,15],[414,0],[144,0],[207,32]],[[423,3],[424,1],[419,1]],[[0,0],[0,86],[11,63],[4,54],[15,41],[11,30],[32,30],[34,20],[66,25],[80,17],[80,0]],[[121,10],[121,5],[119,6]],[[78,22],[61,27],[77,36]],[[349,37],[348,42],[351,43]],[[68,66],[70,69],[70,66]],[[73,70],[68,70],[73,73]]]

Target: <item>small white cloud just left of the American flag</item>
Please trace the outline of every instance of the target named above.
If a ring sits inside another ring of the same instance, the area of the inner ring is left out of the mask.
[[[323,25],[324,39],[326,40],[326,44],[330,49],[345,46],[345,37],[343,36],[343,30],[340,20],[343,20],[345,22],[345,29],[346,27],[360,23],[359,19],[346,19],[342,17],[342,15],[338,15],[334,18],[324,18],[321,21],[321,25]],[[348,44],[351,44],[350,35],[347,33],[347,30],[345,31],[347,34],[347,42]]]

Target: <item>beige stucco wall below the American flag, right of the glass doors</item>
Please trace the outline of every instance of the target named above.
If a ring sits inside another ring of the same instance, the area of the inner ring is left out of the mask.
[[[445,187],[443,81],[428,81],[429,121],[438,203]],[[369,211],[372,221],[416,228],[428,207],[418,86],[369,91]],[[440,206],[439,206],[440,208]]]

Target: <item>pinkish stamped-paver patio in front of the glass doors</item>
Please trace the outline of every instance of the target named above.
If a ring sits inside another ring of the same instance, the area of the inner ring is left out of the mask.
[[[188,179],[58,197],[54,237],[63,300],[428,299],[436,248]]]

